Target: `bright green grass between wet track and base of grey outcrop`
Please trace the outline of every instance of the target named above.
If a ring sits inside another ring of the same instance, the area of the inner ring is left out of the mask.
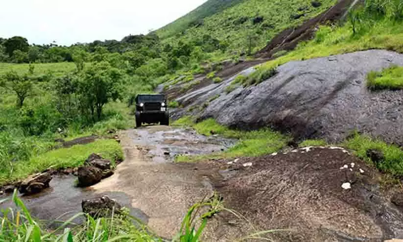
[[[207,119],[198,123],[194,123],[190,117],[184,117],[174,122],[174,125],[191,126],[199,134],[210,136],[212,133],[232,139],[238,139],[236,145],[220,154],[205,156],[178,156],[177,161],[196,161],[212,157],[238,157],[238,156],[261,156],[276,152],[283,148],[289,137],[275,132],[269,128],[262,128],[255,131],[241,131],[229,129],[218,124],[213,119]]]

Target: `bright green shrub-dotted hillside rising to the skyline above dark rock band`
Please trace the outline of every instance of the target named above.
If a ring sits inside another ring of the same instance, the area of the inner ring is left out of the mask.
[[[246,51],[249,45],[257,50],[285,28],[303,23],[335,2],[336,0],[244,0],[223,11],[217,10],[211,16],[206,14],[208,17],[198,24],[189,24],[198,20],[196,12],[213,13],[207,7],[217,1],[209,0],[194,12],[157,30],[156,33],[168,43],[173,43],[178,38],[197,42],[209,35],[225,42],[228,45],[225,49],[227,53],[235,50]],[[187,23],[188,28],[184,30]]]

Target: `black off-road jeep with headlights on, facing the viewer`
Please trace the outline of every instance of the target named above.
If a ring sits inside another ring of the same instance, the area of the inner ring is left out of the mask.
[[[142,123],[169,125],[169,112],[163,94],[141,94],[136,97],[136,127]]]

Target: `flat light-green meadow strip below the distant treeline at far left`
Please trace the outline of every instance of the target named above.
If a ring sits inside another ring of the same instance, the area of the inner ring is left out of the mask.
[[[51,72],[54,76],[58,77],[76,69],[75,64],[72,62],[37,63],[32,65],[35,66],[34,75],[42,75]],[[9,71],[15,71],[20,74],[27,73],[28,69],[29,64],[0,63],[0,75]]]

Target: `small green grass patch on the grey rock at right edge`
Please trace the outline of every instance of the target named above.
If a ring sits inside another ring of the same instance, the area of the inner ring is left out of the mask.
[[[373,91],[403,89],[403,67],[392,66],[381,72],[370,72],[367,76],[367,87]]]

